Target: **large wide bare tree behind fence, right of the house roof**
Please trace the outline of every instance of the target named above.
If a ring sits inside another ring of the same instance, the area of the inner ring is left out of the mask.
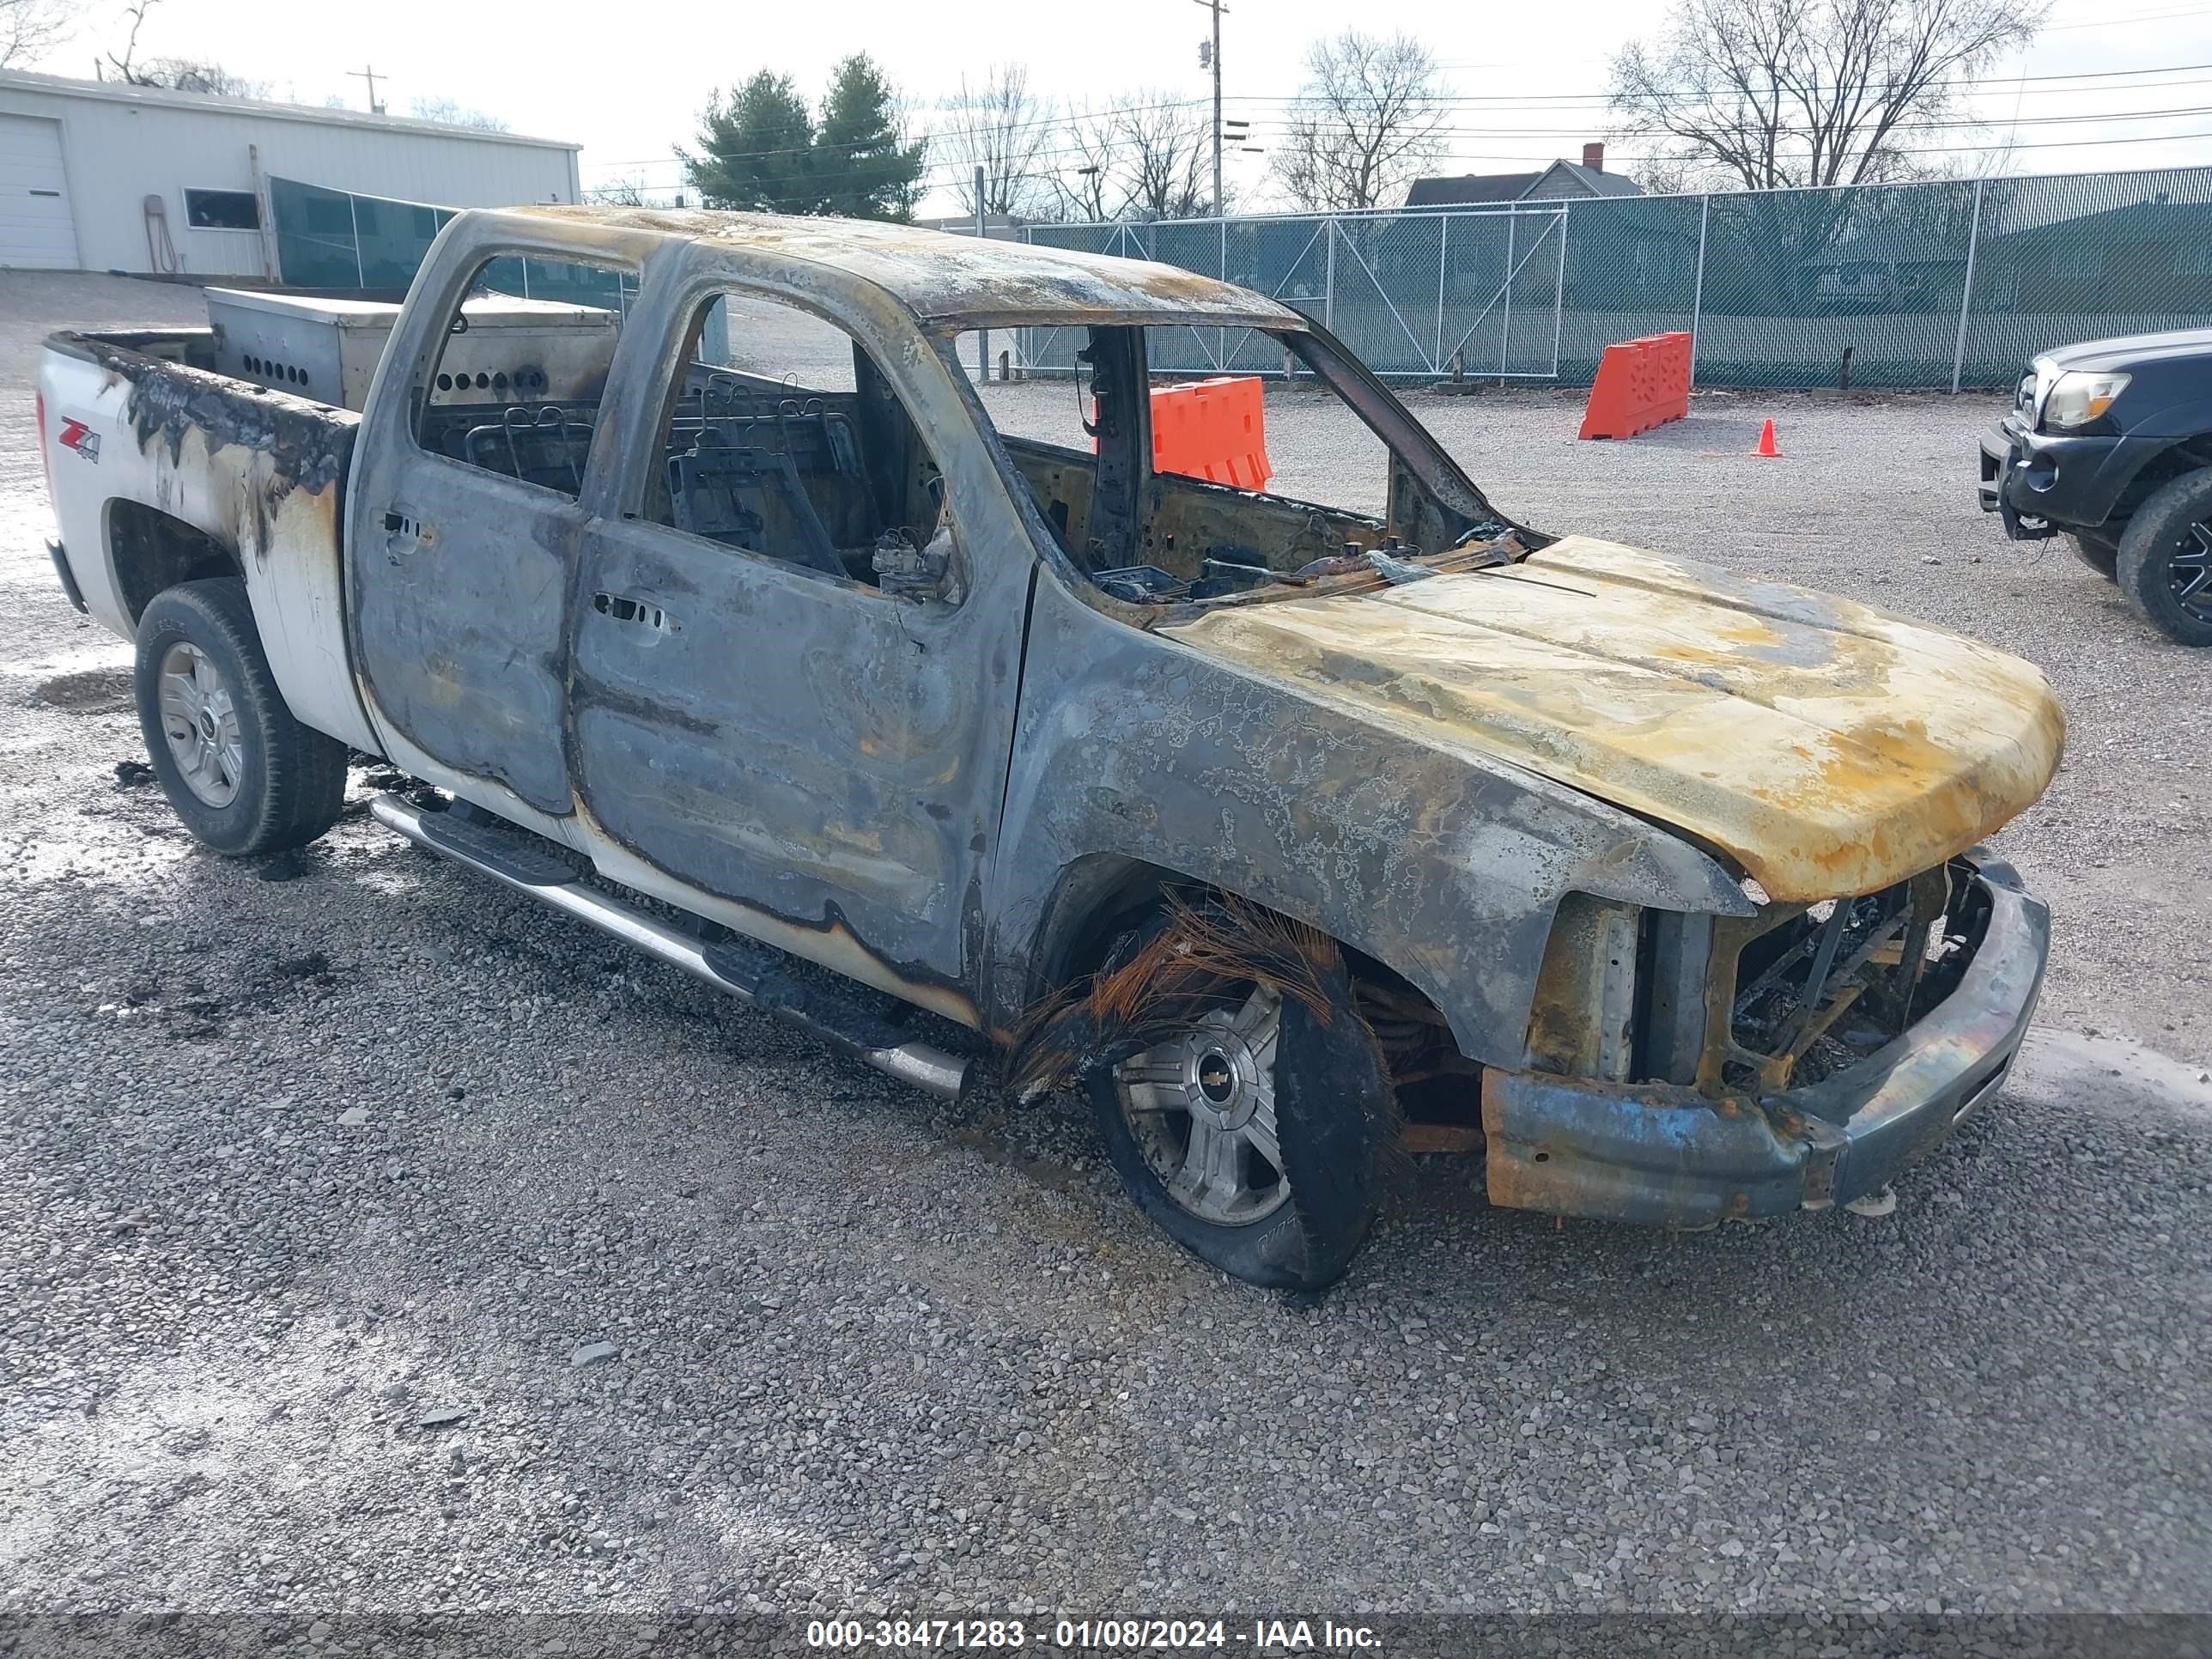
[[[1960,122],[1958,84],[2017,51],[2044,7],[1980,0],[1674,0],[1613,60],[1613,108],[1659,166],[1785,190],[1918,168],[1911,135]]]

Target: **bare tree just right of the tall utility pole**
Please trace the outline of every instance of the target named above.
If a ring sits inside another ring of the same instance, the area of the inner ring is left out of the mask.
[[[1301,208],[1376,208],[1444,148],[1442,71],[1411,35],[1347,29],[1305,49],[1270,170]]]

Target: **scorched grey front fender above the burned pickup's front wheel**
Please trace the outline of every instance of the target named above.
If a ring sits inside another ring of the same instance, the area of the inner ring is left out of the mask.
[[[1471,1060],[1524,1064],[1568,894],[1743,914],[1690,843],[1511,761],[1360,719],[1037,582],[993,863],[993,1020],[1055,989],[1121,860],[1318,927],[1416,984]]]

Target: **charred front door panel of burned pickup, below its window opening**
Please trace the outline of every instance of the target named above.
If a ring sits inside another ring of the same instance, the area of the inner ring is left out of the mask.
[[[606,834],[971,993],[1020,613],[916,606],[635,522],[593,524],[580,593],[575,781]]]

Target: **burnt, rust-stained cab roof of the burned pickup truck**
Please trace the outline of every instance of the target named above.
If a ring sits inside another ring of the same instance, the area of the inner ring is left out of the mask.
[[[1265,294],[1148,259],[1110,259],[1026,241],[953,237],[874,219],[723,212],[714,208],[500,210],[732,250],[801,259],[896,299],[931,330],[1020,323],[1208,323],[1303,330],[1305,319]]]

